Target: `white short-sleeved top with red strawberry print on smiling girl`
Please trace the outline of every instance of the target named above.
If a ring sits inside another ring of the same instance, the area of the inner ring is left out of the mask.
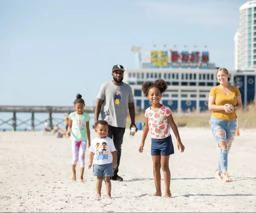
[[[167,117],[171,115],[171,109],[168,106],[162,106],[155,112],[151,106],[146,109],[145,117],[149,120],[149,130],[154,139],[163,139],[170,136],[170,125]]]

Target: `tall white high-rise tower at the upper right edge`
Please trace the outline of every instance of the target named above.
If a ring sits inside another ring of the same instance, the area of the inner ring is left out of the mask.
[[[240,8],[240,27],[235,34],[235,69],[256,69],[256,1]]]

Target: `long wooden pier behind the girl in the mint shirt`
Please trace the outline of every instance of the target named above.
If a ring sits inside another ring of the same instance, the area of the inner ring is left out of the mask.
[[[86,113],[94,113],[94,106],[87,106],[84,108],[84,112]],[[13,131],[16,131],[16,127],[17,125],[17,120],[19,120],[21,122],[21,124],[26,124],[28,125],[27,122],[31,121],[31,127],[32,127],[32,131],[35,130],[35,126],[43,124],[43,122],[45,121],[39,121],[37,120],[39,123],[37,125],[35,125],[35,113],[49,113],[49,125],[50,127],[53,126],[53,118],[52,118],[52,113],[71,113],[74,112],[75,109],[73,106],[3,106],[0,105],[0,112],[12,112],[13,113],[13,117],[9,120],[3,120],[0,117],[0,122],[2,121],[2,123],[0,123],[0,126],[3,124],[8,124],[10,126],[12,126]],[[17,112],[25,112],[25,113],[31,113],[31,119],[22,121],[20,119],[17,119],[16,117],[16,113]],[[12,120],[12,124],[9,124],[9,122]],[[57,121],[57,124],[60,124],[61,122],[64,121],[64,119],[55,119]],[[61,120],[61,121],[60,121]],[[19,125],[21,125],[19,124]],[[30,126],[30,125],[29,125]]]

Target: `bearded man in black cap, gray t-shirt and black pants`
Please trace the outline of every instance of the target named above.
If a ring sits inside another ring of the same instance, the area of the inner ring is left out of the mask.
[[[99,94],[97,96],[97,103],[95,107],[95,122],[99,120],[101,111],[101,118],[106,120],[109,124],[109,131],[107,136],[112,138],[116,148],[117,163],[119,167],[121,158],[121,146],[123,143],[123,135],[125,134],[126,118],[129,110],[131,118],[131,127],[135,127],[135,107],[133,103],[133,93],[130,85],[123,82],[122,65],[114,65],[112,69],[113,81],[102,84]],[[117,174],[118,167],[114,169],[114,176],[112,180],[123,181]]]

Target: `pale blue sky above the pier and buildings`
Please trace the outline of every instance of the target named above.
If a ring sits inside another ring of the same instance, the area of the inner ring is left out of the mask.
[[[131,45],[209,47],[234,69],[234,35],[246,1],[1,0],[0,105],[95,103],[111,69],[135,67]]]

